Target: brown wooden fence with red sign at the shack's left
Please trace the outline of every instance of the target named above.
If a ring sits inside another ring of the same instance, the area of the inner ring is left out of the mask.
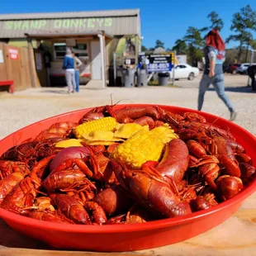
[[[13,80],[15,91],[25,90],[32,86],[29,50],[27,47],[13,47],[0,43],[0,81]],[[31,54],[34,58],[33,49],[31,49]],[[35,60],[32,68],[36,72]],[[35,85],[40,86],[38,79]]]

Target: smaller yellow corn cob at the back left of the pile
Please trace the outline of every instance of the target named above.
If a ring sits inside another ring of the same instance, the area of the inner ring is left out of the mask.
[[[95,130],[114,130],[117,122],[113,117],[103,117],[97,120],[88,121],[73,128],[73,134],[77,139],[82,139],[83,135],[88,135]]]

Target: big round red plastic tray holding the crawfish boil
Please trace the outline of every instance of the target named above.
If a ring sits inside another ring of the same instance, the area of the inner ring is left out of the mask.
[[[154,106],[150,104],[128,104],[125,106]],[[159,105],[160,106],[160,105]],[[183,107],[161,106],[169,111],[180,113],[183,111],[194,111]],[[0,154],[13,145],[21,143],[30,137],[39,134],[40,130],[48,128],[58,121],[78,121],[86,111],[91,108],[64,113],[53,116],[43,121],[38,121],[31,126],[17,130],[0,140]],[[216,126],[229,127],[236,140],[244,146],[256,163],[256,137],[218,116],[200,112],[208,122],[215,122]],[[256,190],[256,179],[244,191],[232,199],[211,207],[209,210],[198,211],[183,217],[175,217],[165,220],[155,220],[144,224],[132,225],[64,225],[48,221],[33,220],[25,216],[5,211],[0,208],[0,217],[7,222],[13,230],[21,234],[31,236],[34,239],[45,241],[47,244],[59,249],[86,249],[92,251],[131,251],[139,249],[152,249],[159,246],[178,243],[192,238],[211,228],[219,225],[235,211],[241,203]],[[230,230],[232,232],[233,230]]]

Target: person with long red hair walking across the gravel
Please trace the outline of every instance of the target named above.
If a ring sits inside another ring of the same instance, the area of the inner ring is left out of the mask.
[[[225,103],[230,111],[230,121],[234,121],[237,112],[235,111],[230,98],[225,94],[223,62],[225,61],[225,43],[220,34],[212,29],[206,36],[206,47],[204,49],[206,67],[201,78],[198,93],[198,111],[201,111],[204,96],[209,86],[214,86],[218,96]]]

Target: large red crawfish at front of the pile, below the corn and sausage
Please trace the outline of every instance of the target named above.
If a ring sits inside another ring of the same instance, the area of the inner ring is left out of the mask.
[[[122,170],[119,164],[112,161],[116,178],[126,193],[140,206],[145,207],[154,216],[173,217],[191,213],[188,203],[177,197],[168,183],[143,171]]]

